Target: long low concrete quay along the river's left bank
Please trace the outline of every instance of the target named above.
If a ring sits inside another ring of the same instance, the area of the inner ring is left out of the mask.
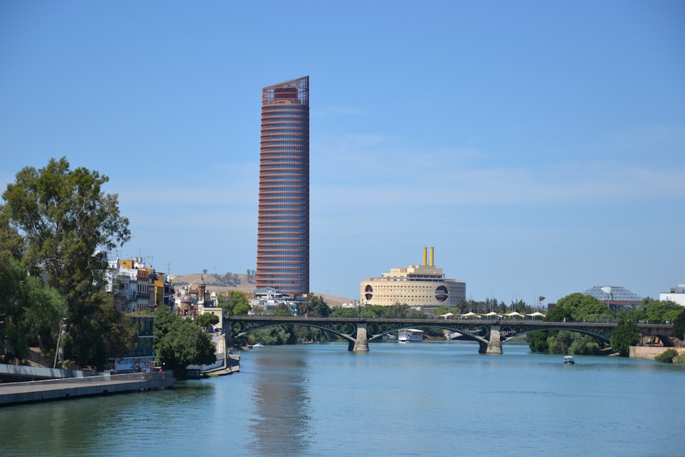
[[[0,384],[0,406],[47,400],[138,392],[173,386],[171,371],[162,373],[128,373],[30,382]]]

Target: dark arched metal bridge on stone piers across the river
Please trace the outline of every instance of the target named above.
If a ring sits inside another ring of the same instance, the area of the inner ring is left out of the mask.
[[[432,327],[457,332],[464,338],[477,341],[478,351],[483,354],[502,354],[502,343],[516,336],[540,330],[570,330],[610,342],[615,322],[547,322],[509,319],[386,319],[386,318],[336,318],[336,317],[258,317],[230,316],[224,321],[227,344],[235,338],[256,330],[275,325],[306,325],[319,328],[347,340],[349,351],[369,351],[369,341],[382,338],[403,328]],[[671,324],[638,324],[643,338],[659,336],[670,341],[674,336]]]

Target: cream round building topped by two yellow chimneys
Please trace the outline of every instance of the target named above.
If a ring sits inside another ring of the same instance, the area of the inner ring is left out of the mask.
[[[466,283],[447,280],[443,269],[433,263],[434,249],[423,248],[423,264],[407,268],[393,268],[381,277],[372,277],[360,283],[362,305],[393,306],[396,303],[409,306],[456,306],[466,299]]]

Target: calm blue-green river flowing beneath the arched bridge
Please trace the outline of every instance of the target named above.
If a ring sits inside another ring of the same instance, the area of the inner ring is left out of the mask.
[[[171,390],[0,408],[0,456],[685,456],[685,369],[456,342],[242,351]]]

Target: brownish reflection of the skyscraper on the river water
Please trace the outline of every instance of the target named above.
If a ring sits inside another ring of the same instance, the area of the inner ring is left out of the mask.
[[[260,455],[303,452],[313,433],[306,360],[284,351],[282,357],[255,362],[259,376],[253,386],[251,449]]]

